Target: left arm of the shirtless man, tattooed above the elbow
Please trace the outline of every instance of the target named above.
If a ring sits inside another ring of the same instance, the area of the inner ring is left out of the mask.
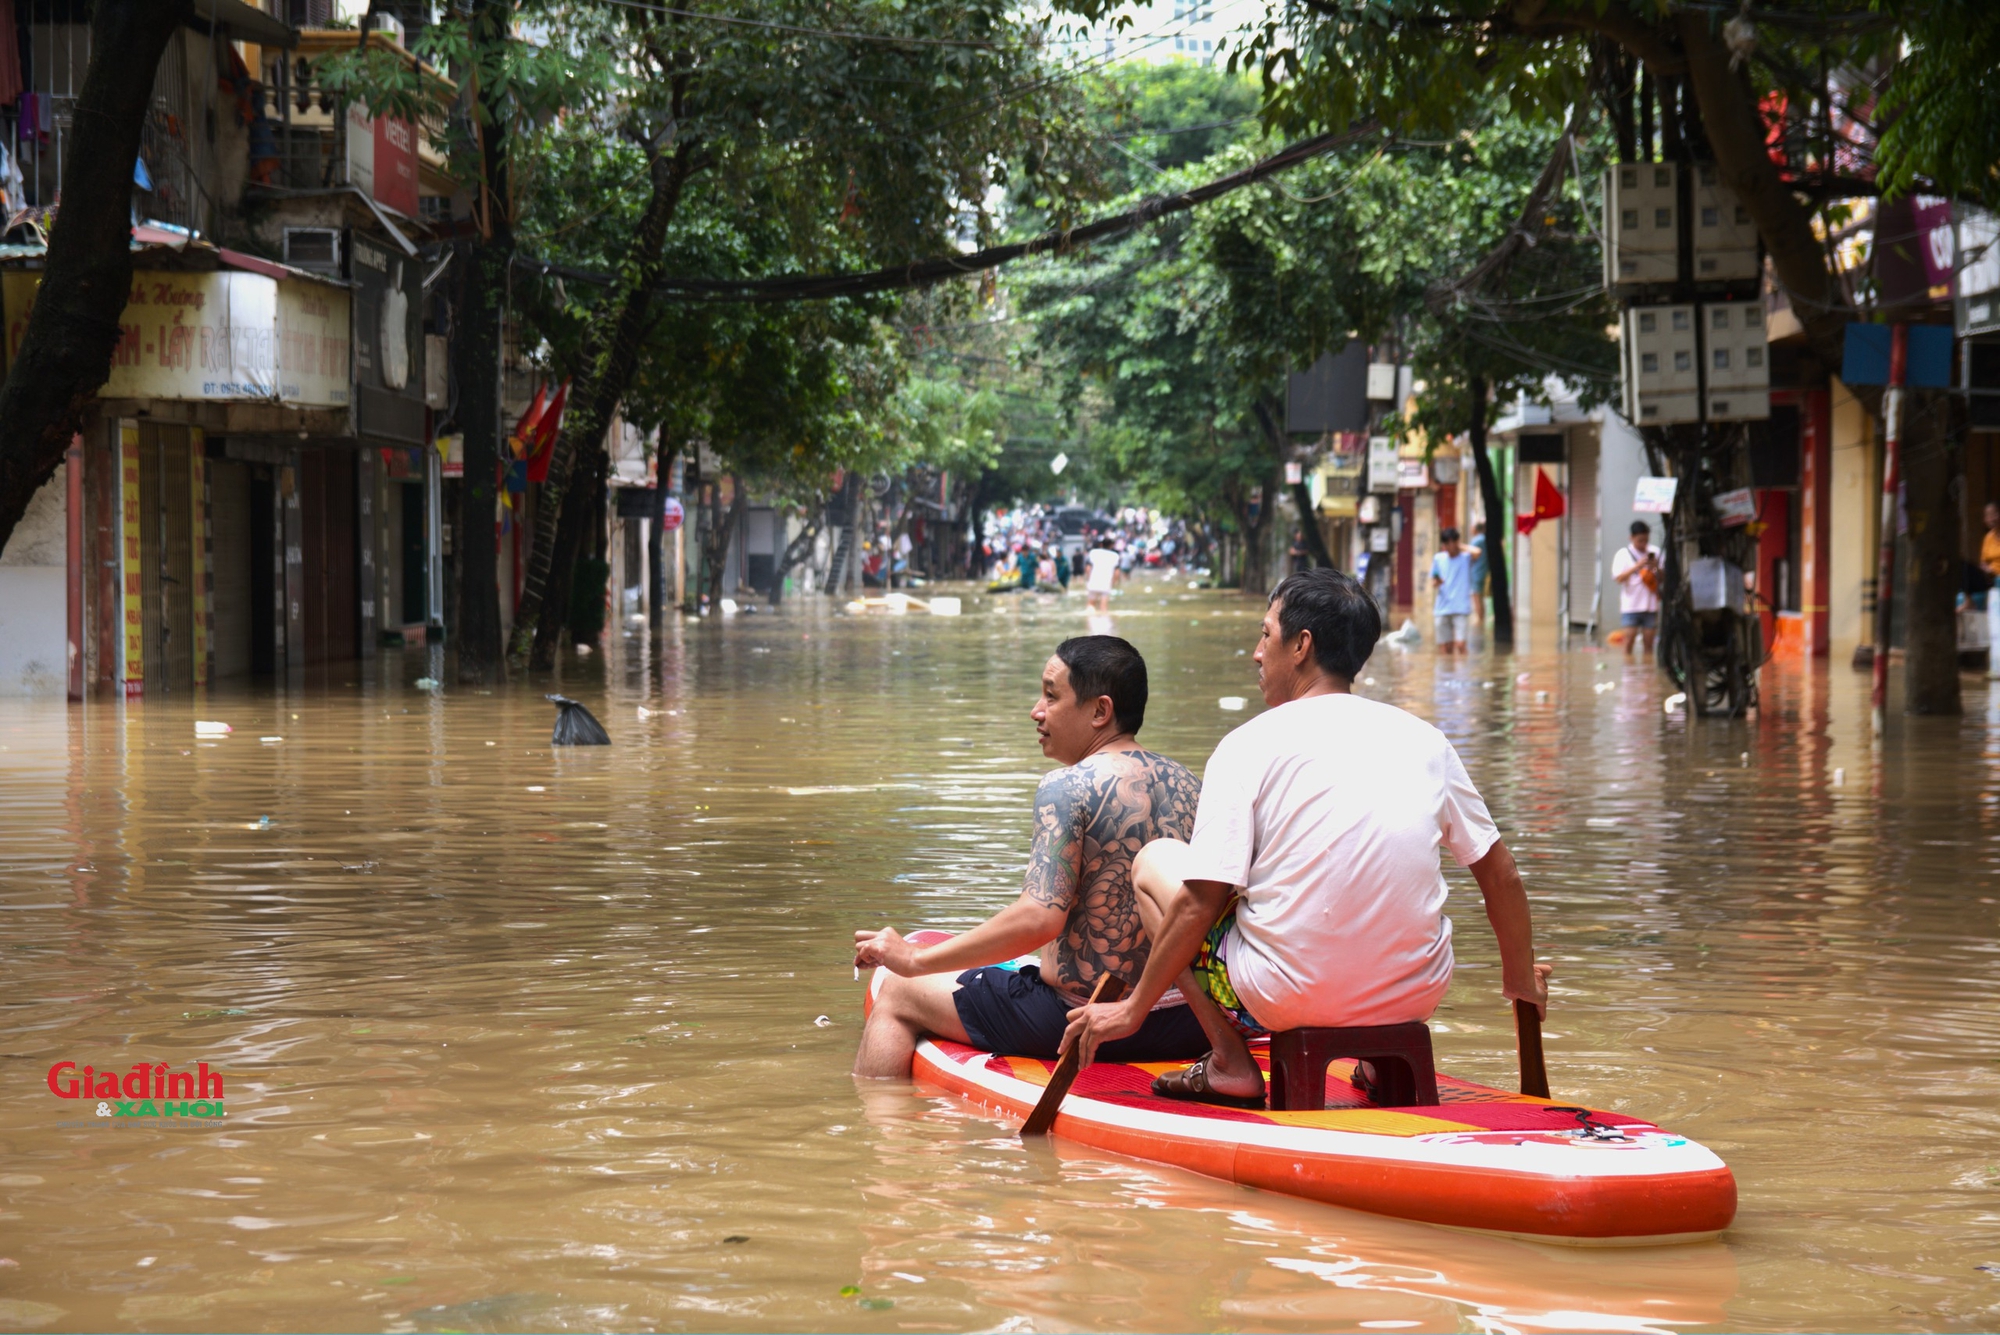
[[[894,927],[854,933],[856,967],[892,973],[960,973],[1036,951],[1058,935],[1076,903],[1088,781],[1076,767],[1056,769],[1034,793],[1034,851],[1020,899],[972,931],[938,945],[910,945]]]

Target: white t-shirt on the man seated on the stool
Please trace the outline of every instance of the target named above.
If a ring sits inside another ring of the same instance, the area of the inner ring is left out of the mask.
[[[1230,985],[1270,1029],[1430,1019],[1452,981],[1438,845],[1500,831],[1444,733],[1360,695],[1268,709],[1216,745],[1192,875],[1242,887]]]

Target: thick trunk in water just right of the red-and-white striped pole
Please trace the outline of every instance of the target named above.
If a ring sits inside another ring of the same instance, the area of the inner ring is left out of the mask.
[[[1904,392],[1902,496],[1910,516],[1910,606],[1904,632],[1904,709],[1958,713],[1958,504],[1952,400]]]

